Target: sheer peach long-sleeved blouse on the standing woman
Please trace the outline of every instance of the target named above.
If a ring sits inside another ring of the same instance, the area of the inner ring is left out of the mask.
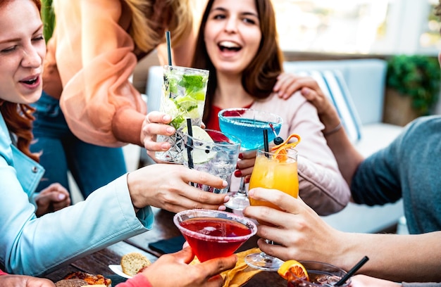
[[[56,29],[44,63],[44,91],[60,98],[77,137],[101,146],[142,144],[147,105],[129,82],[137,57],[120,0],[54,1]]]

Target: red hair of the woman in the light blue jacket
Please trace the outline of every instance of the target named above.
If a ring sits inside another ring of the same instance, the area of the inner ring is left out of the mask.
[[[9,1],[0,1],[0,8]],[[37,6],[38,10],[42,8],[42,4],[39,0],[32,0]],[[19,103],[12,103],[9,101],[0,101],[0,113],[3,115],[8,130],[17,136],[17,148],[32,158],[32,160],[39,161],[38,153],[31,153],[29,146],[34,139],[32,135],[32,121],[35,117],[32,116],[34,108]]]

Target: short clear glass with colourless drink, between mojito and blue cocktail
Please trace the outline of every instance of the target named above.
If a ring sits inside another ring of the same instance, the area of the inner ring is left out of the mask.
[[[199,189],[213,193],[227,193],[232,172],[235,171],[240,139],[230,134],[204,129],[210,139],[198,139],[184,135],[185,151],[182,154],[184,165],[192,165],[194,170],[208,172],[228,182],[224,189],[216,189],[206,184],[197,184]],[[190,155],[190,156],[189,156]]]

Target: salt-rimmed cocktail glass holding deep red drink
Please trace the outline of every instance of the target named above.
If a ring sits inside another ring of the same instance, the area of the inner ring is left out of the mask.
[[[257,231],[251,219],[219,210],[185,210],[173,222],[200,262],[232,255]]]

